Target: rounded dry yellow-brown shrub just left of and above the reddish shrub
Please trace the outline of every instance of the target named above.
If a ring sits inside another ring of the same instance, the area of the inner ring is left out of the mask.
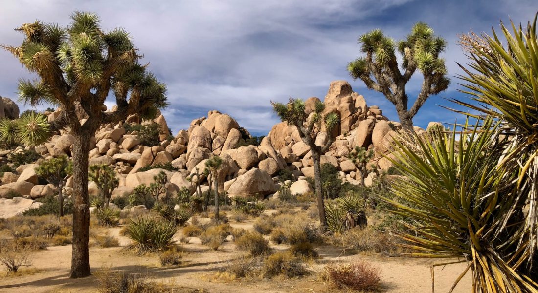
[[[286,251],[277,252],[268,256],[264,260],[263,274],[266,277],[278,275],[295,277],[306,275],[307,271],[301,261],[293,256],[293,253]]]

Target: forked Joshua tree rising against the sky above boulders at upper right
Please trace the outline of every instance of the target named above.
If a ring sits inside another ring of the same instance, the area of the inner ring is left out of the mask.
[[[358,38],[360,51],[365,56],[349,62],[348,72],[353,79],[360,78],[368,89],[381,92],[394,104],[400,123],[407,131],[413,131],[413,117],[431,95],[448,88],[445,60],[439,54],[447,47],[447,41],[434,35],[434,30],[425,23],[416,23],[405,40],[386,37],[381,30],[373,30]],[[401,54],[402,74],[398,67],[395,49]],[[419,70],[424,79],[419,95],[410,110],[407,106],[406,84]],[[372,79],[374,78],[375,81]]]

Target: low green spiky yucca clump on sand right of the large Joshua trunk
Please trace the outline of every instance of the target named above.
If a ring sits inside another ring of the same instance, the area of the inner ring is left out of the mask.
[[[133,219],[127,225],[125,236],[133,240],[129,248],[139,253],[161,251],[174,245],[174,223],[150,217]]]

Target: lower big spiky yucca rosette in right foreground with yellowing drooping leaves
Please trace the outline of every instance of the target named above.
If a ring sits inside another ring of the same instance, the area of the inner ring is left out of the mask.
[[[471,270],[474,292],[536,292],[523,269],[529,240],[520,228],[518,173],[499,165],[506,140],[491,117],[464,127],[431,140],[415,137],[414,146],[396,142],[393,163],[408,179],[392,185],[402,201],[385,201],[411,219],[403,223],[409,232],[394,231],[409,243],[399,245],[418,251],[409,256],[466,259],[462,276]]]

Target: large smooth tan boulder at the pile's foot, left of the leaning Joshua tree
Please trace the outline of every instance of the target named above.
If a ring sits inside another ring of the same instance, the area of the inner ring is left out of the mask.
[[[266,171],[253,168],[237,177],[236,181],[230,185],[228,195],[244,198],[258,196],[259,199],[263,199],[277,190],[277,184],[274,184],[273,178]]]

